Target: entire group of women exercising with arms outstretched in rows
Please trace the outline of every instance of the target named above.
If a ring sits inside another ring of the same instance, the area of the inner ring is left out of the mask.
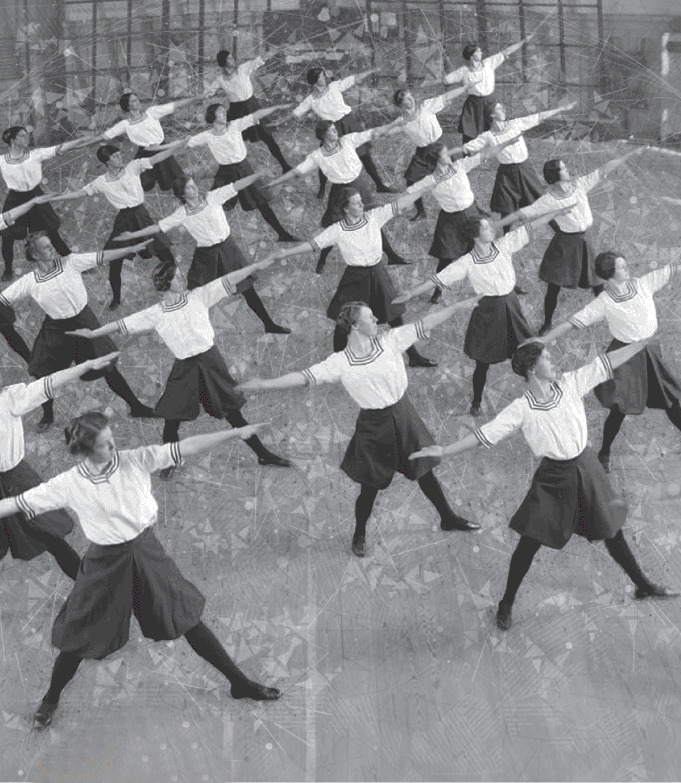
[[[229,680],[235,698],[280,696],[279,690],[250,680],[235,665],[201,620],[204,597],[181,575],[153,531],[158,507],[150,475],[156,471],[167,480],[183,460],[235,437],[255,452],[260,465],[291,465],[260,440],[263,425],[249,424],[242,415],[244,391],[340,383],[358,404],[355,432],[341,465],[360,487],[351,544],[357,557],[366,554],[366,526],[378,492],[390,485],[395,472],[418,482],[435,507],[442,530],[478,530],[478,524],[453,511],[433,469],[445,456],[490,448],[520,431],[541,462],[510,522],[520,540],[497,610],[502,630],[511,626],[516,593],[536,552],[542,545],[561,549],[573,533],[605,542],[634,582],[637,599],[676,595],[642,572],[622,533],[626,505],[607,478],[611,446],[626,415],[661,408],[681,429],[681,387],[654,341],[658,324],[653,297],[671,282],[676,265],[634,278],[621,253],[607,250],[596,255],[589,239],[589,192],[641,148],[579,177],[573,177],[563,161],[549,160],[543,167],[546,187],[540,182],[528,160],[523,132],[574,104],[509,119],[496,101],[495,70],[530,38],[490,57],[483,57],[475,44],[466,46],[463,67],[442,79],[444,85],[463,86],[422,101],[399,89],[393,97],[398,119],[368,130],[362,129],[344,93],[371,71],[327,83],[324,70],[312,68],[307,73],[310,93],[301,103],[262,108],[253,94],[252,77],[273,50],[240,64],[231,53],[220,52],[219,77],[195,98],[143,108],[138,97],[127,92],[120,99],[123,119],[95,136],[35,149],[25,128],[4,132],[8,150],[0,159],[0,173],[9,193],[0,229],[2,280],[8,285],[0,293],[0,331],[35,380],[6,386],[0,393],[0,556],[9,551],[28,560],[48,551],[74,580],[54,623],[52,642],[59,654],[34,718],[36,727],[51,723],[64,687],[84,658],[102,659],[126,643],[131,613],[150,639],[185,636],[197,654]],[[206,130],[165,142],[163,117],[219,91],[225,99],[208,105]],[[467,97],[459,123],[462,144],[454,146],[437,115],[463,94]],[[264,122],[282,111],[276,124]],[[318,120],[319,146],[292,166],[273,130],[308,112]],[[416,146],[404,174],[407,188],[399,195],[385,184],[371,153],[374,143],[397,134],[405,134]],[[121,135],[137,146],[133,160],[126,161],[111,144]],[[263,142],[281,166],[282,175],[267,187],[259,184],[263,172],[254,172],[250,165],[247,142]],[[95,143],[101,143],[96,155],[105,169],[102,175],[76,191],[43,193],[45,162]],[[184,173],[175,157],[184,148],[204,146],[217,164],[208,192]],[[499,162],[490,201],[491,210],[501,216],[496,221],[479,208],[468,179],[470,171],[490,158]],[[318,198],[324,198],[330,183],[323,230],[303,241],[282,225],[270,206],[272,187],[315,171]],[[172,190],[178,205],[154,222],[145,194],[156,186]],[[377,193],[395,195],[379,205]],[[386,226],[412,208],[412,220],[425,217],[427,193],[439,205],[429,249],[437,267],[430,278],[400,292],[388,266],[407,262],[391,246]],[[59,233],[51,202],[94,194],[103,195],[117,210],[111,234],[100,251],[72,252]],[[243,210],[257,210],[277,239],[292,246],[249,264],[228,222],[237,203]],[[511,229],[513,223],[519,227]],[[547,223],[554,235],[539,270],[547,290],[544,323],[535,337],[518,298],[513,256]],[[186,273],[175,262],[169,238],[180,226],[196,244]],[[501,228],[504,233],[498,237]],[[26,259],[33,269],[13,280],[14,245],[27,236]],[[255,273],[277,259],[305,253],[319,254],[321,273],[333,247],[346,265],[327,310],[335,323],[333,352],[300,372],[237,383],[215,345],[211,308],[226,297],[241,295],[265,331],[288,334],[290,330],[274,320],[256,292]],[[156,262],[152,280],[159,299],[140,312],[101,325],[88,306],[83,273],[108,265],[114,311],[122,299],[123,261],[136,254]],[[431,300],[437,302],[444,289],[464,280],[474,297],[404,322],[407,301],[432,294]],[[590,288],[594,298],[554,327],[561,288]],[[14,326],[15,310],[29,298],[45,313],[32,349]],[[512,369],[525,379],[526,390],[474,433],[442,447],[435,445],[409,400],[402,354],[406,352],[410,367],[436,366],[415,344],[461,310],[471,310],[464,338],[464,352],[475,362],[470,414],[481,414],[492,364],[512,359]],[[574,372],[561,373],[548,344],[570,329],[603,319],[612,334],[605,353]],[[390,328],[379,330],[381,324]],[[110,337],[144,332],[156,332],[175,357],[165,391],[153,408],[138,399],[117,369],[119,353]],[[76,380],[98,378],[128,403],[132,416],[164,419],[162,444],[119,451],[107,417],[88,412],[65,430],[77,464],[43,481],[25,460],[22,417],[42,406],[37,430],[46,431],[54,422],[54,398],[60,391]],[[587,446],[583,402],[591,389],[610,411],[597,456]],[[196,419],[201,408],[216,419],[226,419],[232,429],[180,441],[182,422]],[[73,522],[64,509],[75,513],[90,542],[82,559],[66,541]]]

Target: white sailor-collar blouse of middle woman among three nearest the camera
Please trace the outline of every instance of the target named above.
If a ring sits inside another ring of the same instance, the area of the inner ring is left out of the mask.
[[[402,352],[429,334],[422,321],[398,326],[372,338],[368,356],[355,356],[348,347],[303,370],[303,375],[311,386],[339,381],[360,408],[387,408],[407,391]]]

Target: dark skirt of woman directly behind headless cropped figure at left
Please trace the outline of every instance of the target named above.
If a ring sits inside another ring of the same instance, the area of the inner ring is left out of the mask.
[[[34,378],[44,378],[53,372],[66,370],[72,364],[82,364],[98,356],[117,351],[116,343],[110,337],[72,337],[66,332],[76,329],[99,329],[101,324],[89,305],[72,318],[55,320],[45,316],[28,360],[28,372]],[[109,368],[88,370],[80,376],[81,381],[94,381],[106,375]]]

